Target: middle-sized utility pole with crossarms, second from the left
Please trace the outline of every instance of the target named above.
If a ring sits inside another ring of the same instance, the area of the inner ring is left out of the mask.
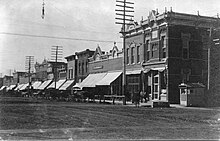
[[[63,47],[62,46],[52,46],[52,48],[51,48],[51,60],[55,61],[55,64],[54,64],[55,89],[56,89],[56,83],[57,83],[57,61],[62,60],[62,54],[63,54]]]

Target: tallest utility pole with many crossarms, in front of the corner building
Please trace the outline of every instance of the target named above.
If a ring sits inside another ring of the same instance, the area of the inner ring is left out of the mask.
[[[127,87],[126,87],[126,47],[125,47],[125,36],[126,36],[126,29],[125,26],[129,25],[130,22],[132,22],[132,19],[128,19],[129,17],[132,18],[134,17],[133,15],[129,14],[129,13],[133,13],[134,11],[131,9],[134,9],[133,7],[133,2],[128,2],[126,0],[116,0],[116,2],[118,4],[116,4],[116,7],[120,8],[120,9],[116,9],[115,11],[117,12],[116,15],[120,16],[120,17],[116,17],[116,20],[119,20],[120,22],[115,22],[116,24],[120,24],[122,25],[122,29],[120,31],[120,33],[122,34],[122,38],[123,38],[123,79],[122,79],[122,94],[125,96],[123,104],[126,104],[126,93],[127,93]],[[129,23],[128,23],[129,21]]]

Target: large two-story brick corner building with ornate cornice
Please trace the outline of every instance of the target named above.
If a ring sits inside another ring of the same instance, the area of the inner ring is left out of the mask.
[[[127,26],[125,59],[128,92],[145,91],[152,99],[179,103],[180,83],[200,82],[207,86],[208,29],[218,27],[218,18],[172,10],[162,14],[151,11],[146,20]],[[211,50],[218,54],[220,48],[213,47]],[[211,66],[219,59],[214,61],[216,54],[212,55],[212,52]],[[216,72],[215,75],[219,74]],[[210,79],[214,80],[212,76]],[[219,79],[215,80],[219,82]]]

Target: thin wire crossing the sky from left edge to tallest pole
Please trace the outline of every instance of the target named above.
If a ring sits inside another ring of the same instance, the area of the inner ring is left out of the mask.
[[[23,37],[34,37],[34,38],[50,38],[50,39],[60,39],[60,40],[87,41],[87,42],[106,42],[106,43],[115,42],[112,40],[93,40],[93,39],[83,39],[83,38],[57,37],[57,36],[10,33],[10,32],[0,32],[0,34],[12,35],[12,36],[23,36]],[[122,42],[117,42],[117,43],[122,43]]]

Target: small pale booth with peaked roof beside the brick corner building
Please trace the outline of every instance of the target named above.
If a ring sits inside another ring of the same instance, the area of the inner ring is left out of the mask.
[[[201,83],[182,83],[180,89],[180,105],[205,106],[205,86]]]

